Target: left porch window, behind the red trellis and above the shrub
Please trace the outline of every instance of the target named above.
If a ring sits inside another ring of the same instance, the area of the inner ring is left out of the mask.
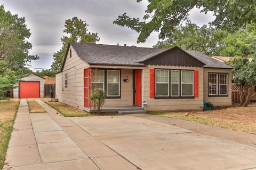
[[[95,76],[95,72],[97,72]],[[95,88],[104,89],[104,70],[93,70],[91,78],[91,90],[94,91]]]

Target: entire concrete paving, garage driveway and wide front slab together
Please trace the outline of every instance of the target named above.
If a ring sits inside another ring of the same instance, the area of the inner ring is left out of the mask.
[[[21,99],[4,169],[256,168],[256,149],[247,145],[254,136],[245,145],[216,137],[214,128],[144,114],[66,118],[36,101],[47,113],[29,114]]]

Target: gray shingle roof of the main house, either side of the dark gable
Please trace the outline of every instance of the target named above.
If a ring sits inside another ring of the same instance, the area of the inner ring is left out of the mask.
[[[166,51],[166,48],[146,48],[117,45],[70,43],[77,55],[89,64],[145,66],[145,61],[152,56]],[[198,51],[185,50],[196,59],[202,61],[207,68],[231,68],[220,61],[212,59]]]

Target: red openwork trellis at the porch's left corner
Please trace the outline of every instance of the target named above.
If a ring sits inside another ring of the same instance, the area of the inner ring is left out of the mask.
[[[92,77],[92,73],[94,72],[94,77]],[[94,79],[94,82],[97,82],[97,69],[96,68],[85,68],[84,69],[84,107],[87,109],[91,109],[91,80]],[[96,88],[96,83],[94,83],[94,88]]]

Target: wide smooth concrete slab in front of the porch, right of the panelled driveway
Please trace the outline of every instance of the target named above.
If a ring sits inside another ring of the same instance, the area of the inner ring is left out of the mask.
[[[134,116],[70,118],[141,169],[249,169],[256,149]]]

